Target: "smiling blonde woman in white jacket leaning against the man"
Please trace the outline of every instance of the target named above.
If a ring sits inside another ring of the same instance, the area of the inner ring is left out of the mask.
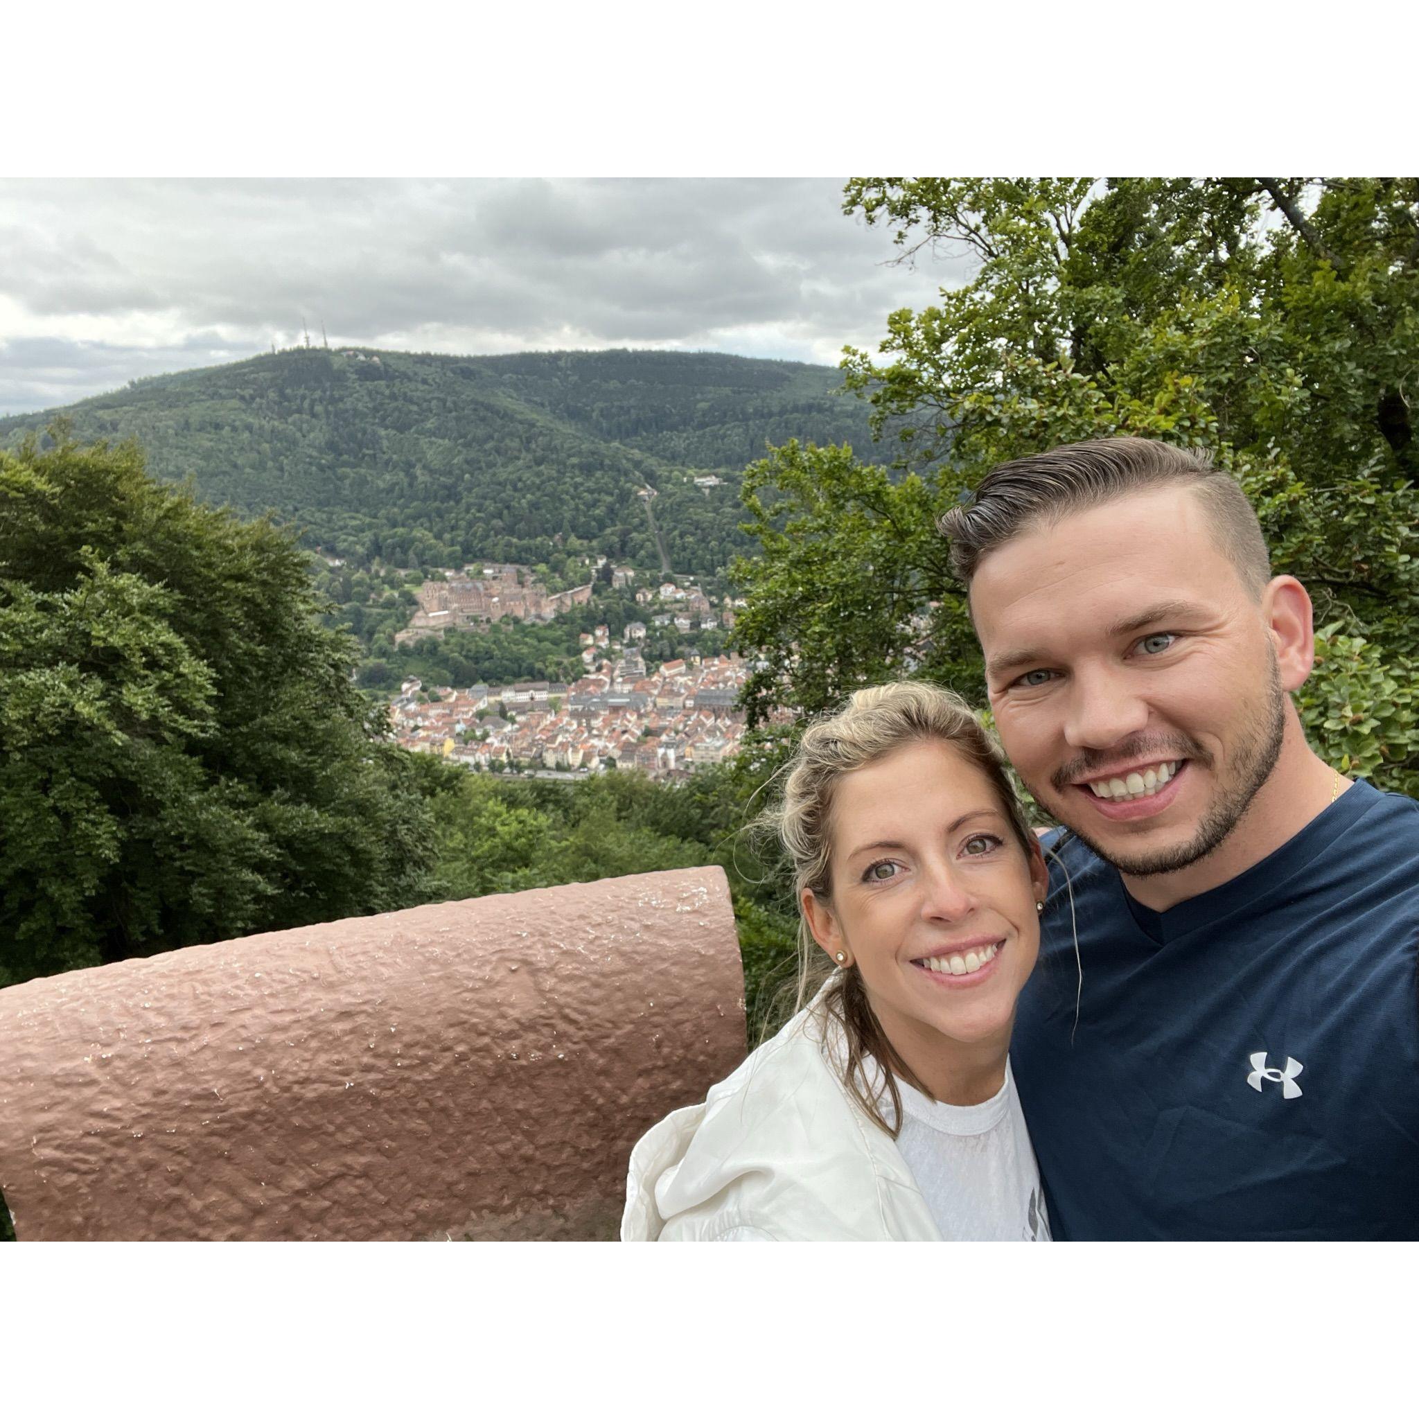
[[[799,1012],[640,1139],[622,1239],[1047,1240],[1007,1050],[1049,877],[999,749],[945,690],[860,690],[772,822]]]

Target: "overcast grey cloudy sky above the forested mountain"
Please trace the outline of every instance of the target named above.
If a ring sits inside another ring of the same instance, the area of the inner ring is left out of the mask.
[[[0,180],[0,413],[295,343],[833,365],[958,260],[890,264],[841,179]]]

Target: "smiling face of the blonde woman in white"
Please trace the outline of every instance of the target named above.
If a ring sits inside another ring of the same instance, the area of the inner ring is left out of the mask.
[[[830,830],[832,901],[805,893],[803,910],[897,1050],[1009,1042],[1049,878],[985,773],[938,739],[904,745],[843,776]]]

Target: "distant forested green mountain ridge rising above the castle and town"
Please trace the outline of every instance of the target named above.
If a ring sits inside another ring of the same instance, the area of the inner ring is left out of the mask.
[[[738,478],[769,443],[870,444],[836,369],[664,350],[407,355],[292,349],[136,380],[0,419],[0,446],[54,417],[136,437],[162,478],[298,522],[342,556],[538,562],[586,545],[658,565],[644,490],[677,570],[745,546]],[[721,485],[695,485],[715,473]]]

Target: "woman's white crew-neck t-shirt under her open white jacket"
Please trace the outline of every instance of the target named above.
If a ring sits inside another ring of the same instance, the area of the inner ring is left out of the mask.
[[[983,1104],[938,1104],[897,1080],[907,1166],[946,1242],[1049,1242],[1040,1169],[1006,1060],[1000,1093]],[[883,1098],[891,1112],[891,1095]]]

